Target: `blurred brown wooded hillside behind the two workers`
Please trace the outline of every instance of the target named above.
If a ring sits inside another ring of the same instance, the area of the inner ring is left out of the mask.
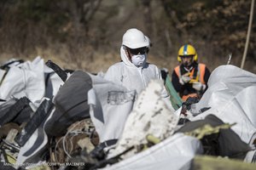
[[[184,43],[197,49],[212,71],[241,65],[251,1],[247,0],[32,0],[0,2],[0,57],[40,55],[71,69],[97,72],[119,61],[124,32],[137,27],[153,42],[149,62],[169,71]],[[255,11],[254,11],[255,15]],[[244,69],[256,73],[256,21]]]

